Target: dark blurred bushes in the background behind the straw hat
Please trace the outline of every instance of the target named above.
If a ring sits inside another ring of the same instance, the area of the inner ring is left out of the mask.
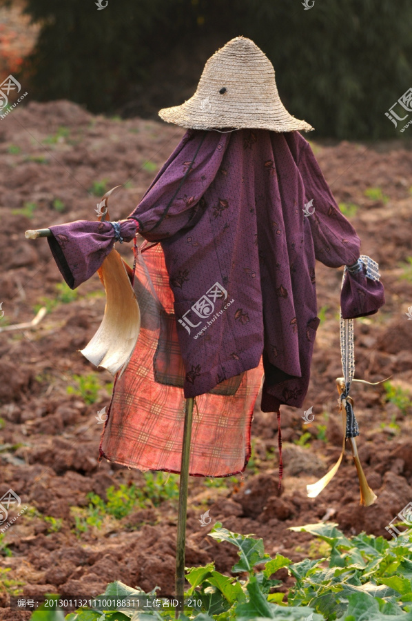
[[[412,86],[407,0],[316,0],[311,10],[300,0],[109,0],[104,10],[94,0],[28,0],[27,12],[42,24],[24,68],[37,99],[154,116],[190,97],[207,58],[243,34],[316,135],[400,135],[384,112]]]

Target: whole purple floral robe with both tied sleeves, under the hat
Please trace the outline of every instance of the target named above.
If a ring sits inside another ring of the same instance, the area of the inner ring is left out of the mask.
[[[189,130],[129,218],[121,221],[125,239],[137,223],[163,249],[185,397],[262,359],[262,409],[302,406],[319,324],[316,259],[338,268],[360,256],[360,239],[302,135]],[[51,230],[50,248],[72,288],[114,242],[107,223]],[[382,283],[348,273],[340,302],[345,318],[375,313]]]

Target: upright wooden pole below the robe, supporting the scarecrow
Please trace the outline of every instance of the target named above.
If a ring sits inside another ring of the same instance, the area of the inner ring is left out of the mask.
[[[183,425],[183,446],[181,461],[181,478],[179,482],[179,505],[177,522],[176,546],[176,595],[185,594],[185,547],[186,547],[186,517],[187,517],[187,482],[189,480],[190,440],[192,437],[194,397],[189,397],[185,404],[185,422]],[[176,619],[178,609],[176,609]]]

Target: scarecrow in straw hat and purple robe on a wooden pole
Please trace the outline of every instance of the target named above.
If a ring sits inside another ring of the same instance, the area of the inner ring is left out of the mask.
[[[116,373],[100,455],[181,473],[183,594],[187,475],[245,470],[260,388],[262,411],[279,423],[280,405],[305,400],[320,322],[316,259],[348,266],[338,383],[346,437],[358,435],[351,319],[376,313],[384,293],[300,134],[313,128],[282,105],[274,68],[253,41],[229,41],[207,61],[193,97],[159,115],[187,132],[127,219],[33,235],[48,236],[70,288],[99,270],[105,317],[83,353]],[[132,239],[131,270],[113,246]]]

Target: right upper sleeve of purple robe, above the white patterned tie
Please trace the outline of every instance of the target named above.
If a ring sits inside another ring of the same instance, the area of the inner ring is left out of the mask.
[[[349,220],[341,213],[319,168],[309,143],[300,137],[298,167],[305,185],[305,197],[313,199],[307,216],[311,226],[315,257],[328,267],[352,265],[360,256],[360,239]]]

